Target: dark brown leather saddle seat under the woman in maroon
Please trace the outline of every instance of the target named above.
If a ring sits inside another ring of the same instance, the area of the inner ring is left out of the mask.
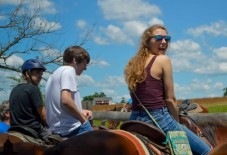
[[[130,120],[124,122],[120,126],[121,130],[135,132],[140,135],[147,137],[150,141],[165,147],[166,145],[163,144],[166,140],[165,134],[156,126],[142,122],[142,121],[135,121]]]

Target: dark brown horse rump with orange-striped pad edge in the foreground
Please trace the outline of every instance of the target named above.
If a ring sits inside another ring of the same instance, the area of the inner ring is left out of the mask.
[[[149,155],[144,144],[123,130],[95,130],[71,137],[44,155]]]

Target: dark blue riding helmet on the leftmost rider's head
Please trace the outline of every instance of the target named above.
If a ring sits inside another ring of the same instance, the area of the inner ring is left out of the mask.
[[[46,70],[42,63],[37,59],[28,59],[21,66],[21,72],[23,74],[25,73],[25,71],[31,71],[33,69],[42,69],[43,71]]]

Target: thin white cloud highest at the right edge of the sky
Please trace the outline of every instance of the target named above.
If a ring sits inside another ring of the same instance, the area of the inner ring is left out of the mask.
[[[209,34],[213,36],[227,36],[227,23],[225,21],[217,21],[210,25],[203,25],[187,30],[189,34],[200,36],[202,34]]]

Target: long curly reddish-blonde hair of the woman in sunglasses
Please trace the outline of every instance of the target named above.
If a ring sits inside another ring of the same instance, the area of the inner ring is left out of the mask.
[[[146,78],[145,62],[150,54],[150,39],[156,29],[167,29],[163,25],[152,25],[147,28],[141,38],[141,44],[137,54],[131,58],[125,67],[125,80],[129,89],[135,90],[137,83],[141,83]],[[168,33],[168,32],[167,32]]]

